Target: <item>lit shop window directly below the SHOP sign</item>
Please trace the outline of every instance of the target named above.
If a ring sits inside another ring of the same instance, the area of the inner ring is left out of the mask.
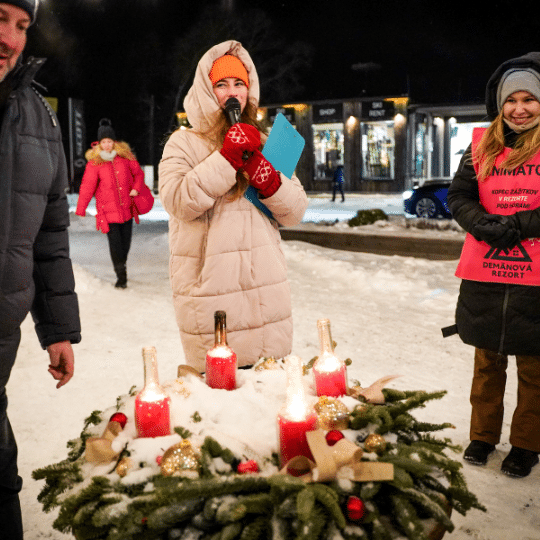
[[[334,169],[343,165],[343,123],[314,124],[313,148],[315,179],[332,178]]]

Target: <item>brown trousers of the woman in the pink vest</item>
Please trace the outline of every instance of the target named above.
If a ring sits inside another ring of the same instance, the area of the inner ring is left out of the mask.
[[[517,406],[510,444],[540,452],[540,357],[516,356]],[[508,357],[475,349],[471,388],[471,440],[497,444],[501,438]]]

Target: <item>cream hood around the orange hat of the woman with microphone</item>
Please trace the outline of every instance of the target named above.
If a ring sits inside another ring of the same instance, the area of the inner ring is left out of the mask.
[[[248,99],[256,107],[259,105],[259,76],[251,56],[238,41],[229,40],[219,43],[199,60],[193,85],[184,99],[184,110],[189,123],[201,133],[207,132],[216,124],[221,110],[208,74],[213,63],[224,54],[233,54],[246,66],[249,75]]]

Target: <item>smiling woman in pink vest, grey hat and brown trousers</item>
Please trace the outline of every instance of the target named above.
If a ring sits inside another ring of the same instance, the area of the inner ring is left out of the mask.
[[[448,190],[468,233],[456,326],[475,347],[464,459],[483,465],[500,441],[512,355],[518,398],[502,471],[524,477],[540,452],[540,53],[504,62],[489,79],[486,105],[493,121],[474,131]]]

